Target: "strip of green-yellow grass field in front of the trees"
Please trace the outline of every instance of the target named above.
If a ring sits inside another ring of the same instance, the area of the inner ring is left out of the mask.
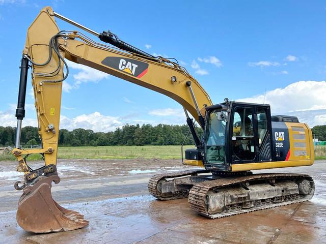
[[[194,148],[184,146],[183,149]],[[59,159],[181,159],[181,146],[79,146],[59,147]],[[0,155],[0,161],[15,160],[9,155]],[[32,155],[28,160],[41,160]],[[315,160],[326,160],[326,146],[315,147]]]

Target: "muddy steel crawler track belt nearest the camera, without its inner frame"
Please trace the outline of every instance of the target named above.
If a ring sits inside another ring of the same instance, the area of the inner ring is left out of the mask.
[[[206,196],[209,191],[216,191],[221,188],[227,187],[236,187],[239,184],[246,184],[246,182],[252,181],[266,181],[266,180],[301,180],[307,179],[310,184],[311,188],[309,190],[309,194],[294,194],[290,196],[284,197],[284,201],[282,202],[275,202],[274,199],[266,199],[263,201],[257,200],[254,201],[254,205],[251,208],[243,208],[240,204],[234,204],[231,206],[227,206],[224,208],[223,211],[218,212],[217,214],[210,214],[208,212],[208,207],[206,203]],[[200,182],[193,186],[193,188],[189,192],[188,202],[190,207],[197,211],[200,215],[203,215],[210,219],[219,219],[223,217],[233,216],[244,214],[246,212],[252,212],[257,210],[262,210],[266,208],[273,208],[278,206],[284,206],[293,203],[299,203],[308,201],[312,198],[314,193],[314,183],[313,179],[309,175],[305,174],[291,174],[291,173],[280,173],[280,174],[252,174],[246,176],[238,176],[238,177],[225,177],[215,180],[207,180]],[[274,202],[273,202],[274,201]]]

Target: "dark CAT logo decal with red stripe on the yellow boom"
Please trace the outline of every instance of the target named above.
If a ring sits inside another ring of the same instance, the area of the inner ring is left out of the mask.
[[[148,63],[126,57],[105,57],[102,65],[116,69],[137,78],[142,78],[148,71]]]

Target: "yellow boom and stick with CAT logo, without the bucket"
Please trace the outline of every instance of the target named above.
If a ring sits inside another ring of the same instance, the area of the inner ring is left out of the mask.
[[[98,36],[102,40],[108,40],[103,38],[103,34]],[[45,157],[45,165],[56,165],[62,84],[69,70],[64,58],[164,94],[180,103],[186,114],[188,111],[203,127],[204,107],[212,105],[212,102],[199,82],[183,67],[169,59],[146,55],[145,52],[145,55],[141,52],[132,53],[130,50],[129,48],[125,51],[96,43],[76,31],[60,32],[53,10],[50,7],[42,9],[28,29],[22,59],[25,65],[21,66],[21,69],[25,70],[21,73],[27,74],[26,62],[32,64],[35,107],[43,148],[20,150],[19,141],[16,141],[13,154],[18,157],[30,153],[42,153]],[[66,74],[64,74],[65,66]],[[26,82],[25,80],[26,75],[22,75],[21,83]],[[20,93],[23,92],[22,88]],[[19,104],[23,103],[24,101],[18,101],[18,114],[16,113],[18,120],[23,118],[21,114],[24,114],[24,111],[19,113],[23,110],[23,106]],[[18,129],[17,133],[19,131]]]

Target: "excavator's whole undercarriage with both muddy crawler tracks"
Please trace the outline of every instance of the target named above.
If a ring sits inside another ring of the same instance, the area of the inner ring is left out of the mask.
[[[154,175],[148,189],[159,200],[187,197],[198,214],[218,219],[308,201],[315,186],[305,174],[185,170]]]

